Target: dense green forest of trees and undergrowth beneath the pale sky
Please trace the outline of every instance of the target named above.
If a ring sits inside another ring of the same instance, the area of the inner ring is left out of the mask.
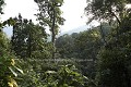
[[[87,0],[86,24],[99,25],[59,37],[64,0],[34,2],[37,23],[21,13],[0,22],[0,87],[131,87],[130,0]]]

